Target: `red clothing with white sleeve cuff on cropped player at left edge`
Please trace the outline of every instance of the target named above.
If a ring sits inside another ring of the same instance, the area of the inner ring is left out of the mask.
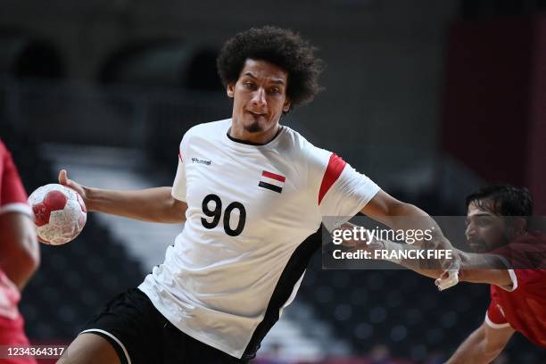
[[[12,161],[12,155],[0,140],[0,215],[21,212],[33,216],[27,204],[27,194]],[[2,244],[0,232],[0,244]],[[17,309],[21,294],[0,269],[0,345],[24,345],[29,340],[24,332],[24,320]],[[33,364],[33,359],[0,359],[2,363]]]

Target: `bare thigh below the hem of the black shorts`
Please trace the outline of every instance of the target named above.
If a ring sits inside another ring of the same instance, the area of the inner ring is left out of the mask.
[[[118,353],[102,336],[80,334],[62,353],[57,364],[120,364]]]

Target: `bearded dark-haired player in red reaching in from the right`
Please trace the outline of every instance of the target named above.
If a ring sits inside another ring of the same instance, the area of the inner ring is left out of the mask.
[[[527,231],[525,217],[532,211],[531,194],[513,186],[485,187],[467,197],[468,245],[475,252],[500,255],[513,269],[467,272],[492,283],[491,304],[482,326],[448,363],[489,363],[516,331],[546,347],[546,238]]]

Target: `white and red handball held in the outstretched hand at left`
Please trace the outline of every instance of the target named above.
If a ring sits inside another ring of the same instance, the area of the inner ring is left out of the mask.
[[[86,204],[73,189],[50,184],[38,187],[29,196],[34,211],[37,236],[45,244],[66,244],[86,225]]]

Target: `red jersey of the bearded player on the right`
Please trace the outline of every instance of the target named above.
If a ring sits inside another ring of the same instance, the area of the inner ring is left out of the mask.
[[[517,266],[523,268],[525,258],[515,259],[514,253],[519,252],[520,257],[524,257],[525,251],[535,253],[545,242],[541,235],[528,234],[517,244],[510,244],[511,262],[517,261]],[[491,286],[491,304],[485,322],[493,328],[512,327],[531,342],[546,347],[546,269],[543,264],[539,266],[542,268],[533,268],[537,267],[534,261],[528,269],[509,269],[510,289]]]

